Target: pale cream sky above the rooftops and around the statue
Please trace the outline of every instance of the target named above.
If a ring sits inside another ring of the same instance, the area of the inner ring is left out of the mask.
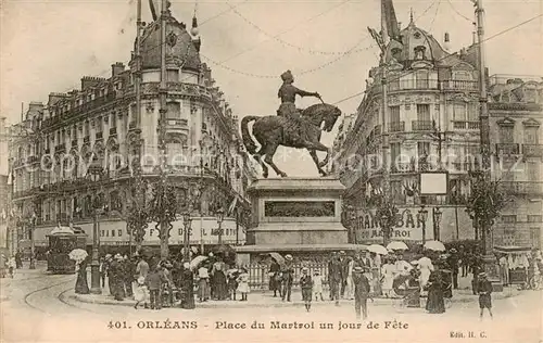
[[[394,0],[394,7],[402,26],[413,10],[416,25],[439,42],[450,33],[451,51],[471,43],[469,0]],[[484,7],[490,73],[543,76],[543,1],[485,0]],[[299,88],[353,113],[362,100],[355,94],[378,63],[367,26],[379,29],[379,0],[172,0],[172,12],[189,26],[197,14],[202,62],[239,117],[275,114],[286,69]],[[109,77],[111,64],[130,58],[135,16],[136,0],[1,1],[0,116],[16,123],[21,103],[26,111],[49,92],[78,89],[85,75]],[[333,132],[323,137],[325,144],[332,140]],[[317,175],[305,151],[279,150],[276,162],[289,176]]]

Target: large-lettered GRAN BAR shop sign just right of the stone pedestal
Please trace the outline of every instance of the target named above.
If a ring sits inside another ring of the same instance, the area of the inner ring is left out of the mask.
[[[418,214],[418,207],[399,211],[397,221],[390,239],[399,241],[422,241],[424,221]],[[426,240],[433,239],[433,224],[431,208],[428,209],[426,220]],[[356,239],[358,241],[382,241],[382,229],[376,211],[358,213],[356,225]]]

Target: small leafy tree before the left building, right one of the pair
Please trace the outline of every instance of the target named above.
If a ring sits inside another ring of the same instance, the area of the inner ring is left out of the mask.
[[[161,258],[165,259],[169,255],[168,240],[172,223],[176,220],[177,196],[172,186],[166,185],[165,178],[156,183],[153,189],[151,203],[149,206],[149,221],[156,223],[161,240]]]

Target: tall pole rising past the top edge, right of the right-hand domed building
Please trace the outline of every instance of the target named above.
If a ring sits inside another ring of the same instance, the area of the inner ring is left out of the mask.
[[[478,177],[483,182],[491,181],[491,161],[490,161],[490,123],[489,123],[489,106],[487,94],[487,66],[484,56],[484,9],[482,0],[471,0],[475,5],[477,16],[477,52],[479,56],[479,134],[480,134],[480,151],[481,151],[481,170],[477,173]],[[477,180],[476,180],[477,181]],[[491,204],[489,204],[491,206]],[[482,253],[484,269],[489,275],[489,279],[498,277],[495,270],[495,257],[492,255],[492,237],[491,223],[488,220],[478,220],[478,228],[481,234]]]

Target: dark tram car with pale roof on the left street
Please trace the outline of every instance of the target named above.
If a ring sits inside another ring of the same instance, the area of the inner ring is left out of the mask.
[[[87,247],[87,234],[76,227],[56,227],[47,234],[49,246],[47,270],[52,274],[75,274],[75,261],[70,259],[74,249]]]

